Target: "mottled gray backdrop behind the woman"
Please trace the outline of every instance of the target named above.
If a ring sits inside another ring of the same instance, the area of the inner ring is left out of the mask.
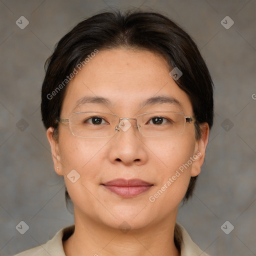
[[[43,64],[69,29],[108,5],[161,11],[198,44],[215,84],[215,119],[195,194],[178,221],[210,255],[255,255],[255,0],[0,0],[0,255],[42,244],[73,223],[40,120]],[[24,29],[15,24],[21,15],[29,20]],[[229,29],[220,23],[227,15]],[[23,235],[15,229],[21,220],[29,226]],[[226,220],[229,234],[220,228]]]

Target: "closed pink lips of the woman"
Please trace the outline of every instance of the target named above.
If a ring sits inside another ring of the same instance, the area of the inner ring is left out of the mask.
[[[123,196],[123,197],[131,197],[142,192],[148,190],[153,184],[149,184],[148,182],[141,179],[113,179],[104,184],[105,188],[108,190]]]

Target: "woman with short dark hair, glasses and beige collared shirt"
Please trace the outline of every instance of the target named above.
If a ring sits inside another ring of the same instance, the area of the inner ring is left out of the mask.
[[[213,120],[212,81],[167,17],[104,12],[47,60],[41,113],[74,225],[17,255],[206,255],[176,223]]]

